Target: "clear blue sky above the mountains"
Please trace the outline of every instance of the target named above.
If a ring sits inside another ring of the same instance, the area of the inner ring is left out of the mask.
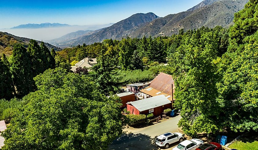
[[[116,23],[136,13],[164,17],[185,11],[202,0],[1,0],[0,29],[27,23],[96,25]]]

